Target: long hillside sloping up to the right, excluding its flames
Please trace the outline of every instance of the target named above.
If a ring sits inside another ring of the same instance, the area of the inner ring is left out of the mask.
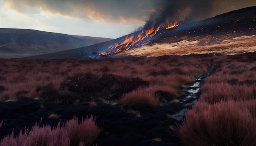
[[[159,29],[153,37],[137,44],[121,45],[126,38],[137,36],[135,32],[111,42],[103,42],[78,49],[60,51],[45,55],[31,56],[26,59],[57,58],[112,58],[127,56],[162,56],[220,53],[232,55],[256,50],[256,7],[244,8],[217,15],[198,22],[184,22],[173,29]],[[136,39],[136,37],[133,37]],[[138,45],[144,44],[144,45]],[[118,46],[109,49],[109,46]],[[130,46],[126,51],[125,46]],[[118,53],[116,52],[120,49]],[[108,55],[99,55],[100,53]]]

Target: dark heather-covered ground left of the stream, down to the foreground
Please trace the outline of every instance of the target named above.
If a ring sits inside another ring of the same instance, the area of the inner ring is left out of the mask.
[[[45,138],[39,139],[42,143],[38,145],[177,145],[173,129],[180,121],[171,115],[186,107],[182,103],[186,87],[207,72],[210,63],[198,63],[205,59],[208,57],[193,55],[1,59],[0,137],[13,144],[20,139],[32,143],[29,139],[35,138],[29,133],[34,133]],[[96,116],[97,120],[91,121],[97,128],[90,129],[90,133],[81,127],[67,132],[68,127],[79,127],[87,121],[77,122],[74,115],[79,119]],[[68,126],[71,121],[76,126]],[[60,131],[71,134],[60,135]]]

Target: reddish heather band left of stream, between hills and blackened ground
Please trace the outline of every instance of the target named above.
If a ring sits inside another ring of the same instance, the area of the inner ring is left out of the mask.
[[[48,87],[53,94],[58,91],[61,95],[95,92],[96,88],[102,91],[108,87],[110,91],[114,88],[112,92],[119,96],[139,86],[154,84],[177,89],[180,83],[191,82],[193,75],[207,70],[207,64],[196,64],[200,59],[189,60],[175,56],[116,60],[1,59],[0,101],[13,101],[21,96],[42,97],[43,89]]]

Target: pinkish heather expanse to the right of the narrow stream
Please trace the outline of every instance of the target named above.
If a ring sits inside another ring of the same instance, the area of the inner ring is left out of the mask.
[[[187,146],[256,145],[255,57],[234,55],[214,61],[200,99],[186,112],[178,135]]]

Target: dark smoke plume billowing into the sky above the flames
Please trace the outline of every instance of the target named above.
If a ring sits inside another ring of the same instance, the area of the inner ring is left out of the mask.
[[[158,0],[156,11],[144,25],[145,29],[175,21],[187,22],[209,17],[212,0]]]

